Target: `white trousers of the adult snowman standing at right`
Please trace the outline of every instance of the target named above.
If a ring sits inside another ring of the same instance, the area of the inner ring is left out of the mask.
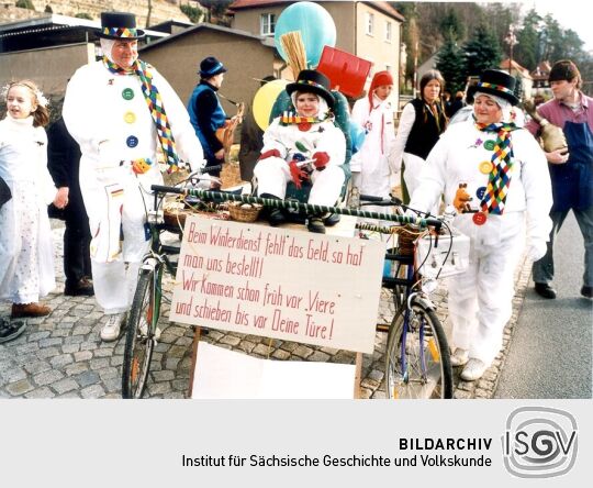
[[[448,279],[451,350],[468,350],[470,357],[490,365],[513,310],[514,274],[525,239],[523,212],[497,218],[503,225],[497,222],[491,229],[488,222],[474,225],[471,215],[462,218],[455,225],[471,239],[470,265]]]

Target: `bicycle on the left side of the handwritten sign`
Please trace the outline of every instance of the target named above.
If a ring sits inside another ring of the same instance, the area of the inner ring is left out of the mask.
[[[197,175],[191,175],[180,182],[193,185],[199,181]],[[138,271],[136,291],[132,307],[127,313],[124,359],[122,367],[122,398],[142,398],[150,370],[154,347],[157,343],[157,324],[160,318],[163,299],[163,275],[176,275],[177,263],[169,256],[178,255],[179,246],[161,242],[161,233],[167,231],[180,235],[181,225],[165,222],[163,203],[167,195],[183,195],[182,187],[166,187],[153,185],[154,209],[147,211],[146,224],[149,230],[149,249],[142,259]],[[206,204],[198,200],[191,204]],[[215,204],[215,202],[214,202]]]

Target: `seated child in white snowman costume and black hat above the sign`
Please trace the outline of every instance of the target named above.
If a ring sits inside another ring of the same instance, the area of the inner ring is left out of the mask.
[[[346,138],[334,124],[335,99],[329,80],[318,71],[303,69],[295,82],[287,85],[287,92],[296,114],[275,119],[264,134],[261,156],[254,170],[258,196],[284,199],[291,179],[298,188],[311,179],[309,203],[333,206],[346,179],[339,166],[346,157]],[[310,164],[303,165],[306,160]],[[286,219],[279,209],[273,209],[268,220],[270,225],[279,225]],[[309,215],[307,228],[324,234],[322,215]]]

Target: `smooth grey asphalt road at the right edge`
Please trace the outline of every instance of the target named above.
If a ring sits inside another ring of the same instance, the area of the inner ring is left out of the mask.
[[[556,300],[529,289],[496,398],[591,398],[593,301],[582,298],[583,239],[571,213],[558,235]]]

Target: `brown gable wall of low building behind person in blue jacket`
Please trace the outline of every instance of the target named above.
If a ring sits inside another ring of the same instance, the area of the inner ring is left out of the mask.
[[[224,110],[236,113],[232,101],[250,103],[262,78],[273,75],[273,40],[245,31],[200,23],[139,48],[142,59],[167,78],[187,102],[199,81],[200,62],[216,56],[228,69],[219,91]]]

